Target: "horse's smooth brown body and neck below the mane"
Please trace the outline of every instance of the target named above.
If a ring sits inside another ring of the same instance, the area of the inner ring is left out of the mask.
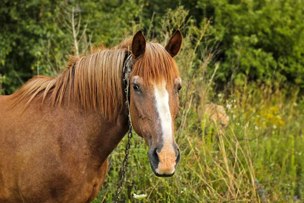
[[[127,115],[114,123],[64,103],[36,111],[39,102],[24,111],[0,97],[0,202],[92,201],[107,156],[128,130]]]

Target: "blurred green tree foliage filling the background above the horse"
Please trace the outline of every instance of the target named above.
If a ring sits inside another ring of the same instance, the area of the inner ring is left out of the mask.
[[[196,29],[212,19],[216,40],[208,45],[219,53],[212,59],[220,62],[218,83],[242,78],[270,83],[275,78],[304,87],[304,2],[300,0],[4,0],[0,8],[2,93],[13,93],[37,74],[56,76],[69,54],[86,54],[100,43],[117,45],[138,29],[149,39],[163,40],[166,36],[160,34],[168,9],[180,5],[187,13],[185,21],[189,20],[184,34],[194,39]],[[173,23],[168,32],[182,26]],[[197,51],[200,55],[202,50]]]

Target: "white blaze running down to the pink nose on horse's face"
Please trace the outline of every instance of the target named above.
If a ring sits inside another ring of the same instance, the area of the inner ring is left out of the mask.
[[[159,122],[162,127],[163,148],[161,152],[157,150],[160,162],[156,172],[158,174],[172,174],[176,165],[175,151],[173,149],[172,117],[169,108],[169,94],[166,83],[161,85],[154,84],[155,105],[159,114]]]

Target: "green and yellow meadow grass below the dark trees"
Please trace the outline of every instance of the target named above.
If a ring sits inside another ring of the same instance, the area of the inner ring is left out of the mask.
[[[148,147],[135,136],[122,198],[130,202],[302,202],[303,97],[298,102],[296,94],[287,98],[286,90],[272,91],[253,83],[238,87],[226,99],[216,95],[219,104],[230,107],[226,108],[230,125],[222,132],[189,100],[176,125],[182,159],[171,178],[155,177],[146,156]],[[111,154],[106,183],[94,202],[115,197],[126,141]],[[136,200],[133,193],[147,197]]]

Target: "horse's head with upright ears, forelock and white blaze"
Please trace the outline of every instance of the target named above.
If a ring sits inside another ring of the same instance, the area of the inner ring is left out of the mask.
[[[181,42],[180,30],[176,30],[166,47],[146,43],[141,30],[132,41],[130,117],[135,132],[149,146],[152,171],[160,177],[173,176],[180,160],[174,122],[182,84],[173,57],[178,54]]]

